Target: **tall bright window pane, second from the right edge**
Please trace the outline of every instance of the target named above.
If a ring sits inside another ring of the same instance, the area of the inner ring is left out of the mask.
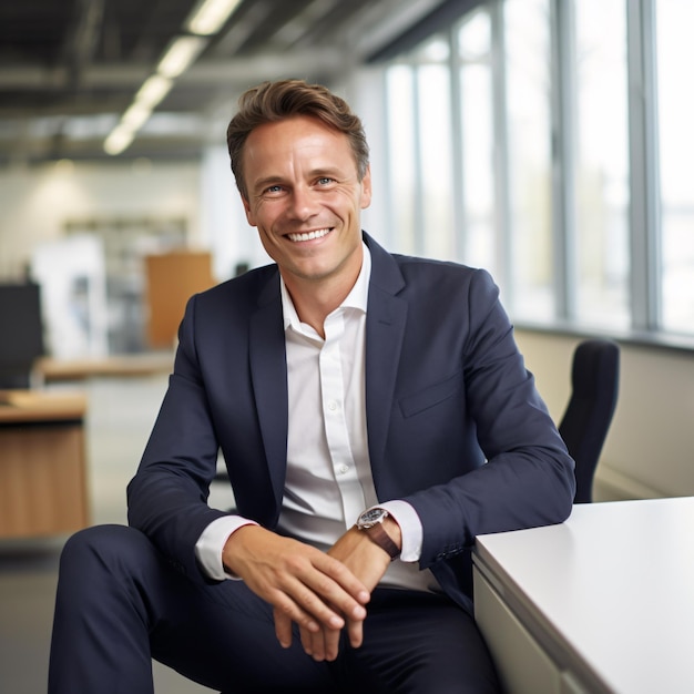
[[[575,313],[627,328],[629,120],[623,0],[573,3]]]

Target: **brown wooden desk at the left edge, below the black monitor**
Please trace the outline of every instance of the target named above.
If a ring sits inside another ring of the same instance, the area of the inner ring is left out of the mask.
[[[0,391],[0,538],[89,524],[82,395]]]

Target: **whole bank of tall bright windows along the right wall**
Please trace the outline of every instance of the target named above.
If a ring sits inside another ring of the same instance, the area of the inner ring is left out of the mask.
[[[486,267],[517,322],[687,343],[693,24],[691,0],[488,0],[395,60],[398,249]]]

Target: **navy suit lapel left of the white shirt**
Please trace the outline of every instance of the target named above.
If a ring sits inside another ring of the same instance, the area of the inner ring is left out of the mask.
[[[283,329],[279,274],[267,283],[251,318],[251,380],[274,492],[274,519],[279,517],[287,467],[287,359]]]

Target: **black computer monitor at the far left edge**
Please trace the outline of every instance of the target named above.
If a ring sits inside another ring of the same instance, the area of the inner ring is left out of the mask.
[[[43,354],[41,287],[0,284],[0,388],[28,388]]]

